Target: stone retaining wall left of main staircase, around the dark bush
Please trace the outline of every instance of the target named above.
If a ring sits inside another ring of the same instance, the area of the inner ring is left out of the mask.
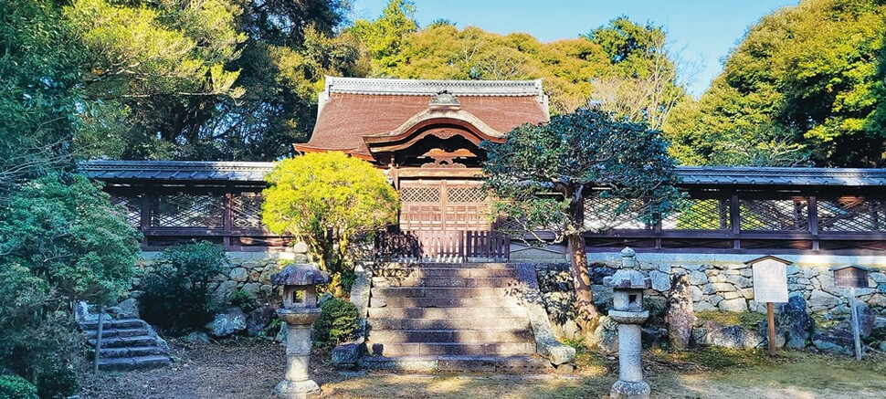
[[[132,281],[132,290],[138,291],[141,277],[151,271],[153,259],[160,252],[142,252],[142,260],[136,263],[136,278]],[[270,276],[279,272],[292,262],[307,262],[307,247],[303,244],[281,251],[261,252],[226,252],[230,259],[230,267],[219,274],[210,286],[213,292],[213,303],[223,305],[230,296],[243,289],[258,299],[270,299],[279,296],[270,285]],[[279,289],[279,288],[278,288]]]

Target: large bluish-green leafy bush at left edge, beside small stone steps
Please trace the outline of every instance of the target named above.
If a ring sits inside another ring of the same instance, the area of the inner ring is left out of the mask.
[[[0,211],[0,369],[41,396],[76,390],[82,336],[69,304],[110,303],[129,289],[141,234],[100,186],[79,175],[23,185]]]

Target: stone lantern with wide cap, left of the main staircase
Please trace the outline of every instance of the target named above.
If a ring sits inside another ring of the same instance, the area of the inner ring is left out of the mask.
[[[282,398],[307,398],[320,394],[311,381],[311,325],[320,317],[317,284],[329,282],[329,273],[311,264],[292,264],[270,277],[271,284],[283,286],[283,307],[277,316],[286,323],[286,373],[274,392]]]

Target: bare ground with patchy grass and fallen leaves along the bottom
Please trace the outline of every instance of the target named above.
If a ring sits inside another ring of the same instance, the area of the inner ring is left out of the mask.
[[[174,342],[174,363],[146,372],[84,374],[83,399],[271,398],[283,373],[283,348],[269,341]],[[582,353],[574,375],[350,373],[312,356],[312,377],[329,398],[602,398],[617,379],[617,361]],[[808,352],[775,359],[755,352],[647,352],[653,397],[883,398],[886,357],[863,362]]]

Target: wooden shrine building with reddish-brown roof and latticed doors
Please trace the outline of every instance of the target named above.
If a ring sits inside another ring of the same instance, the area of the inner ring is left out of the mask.
[[[549,120],[541,80],[326,79],[311,140],[385,169],[403,231],[489,231],[480,142]]]

